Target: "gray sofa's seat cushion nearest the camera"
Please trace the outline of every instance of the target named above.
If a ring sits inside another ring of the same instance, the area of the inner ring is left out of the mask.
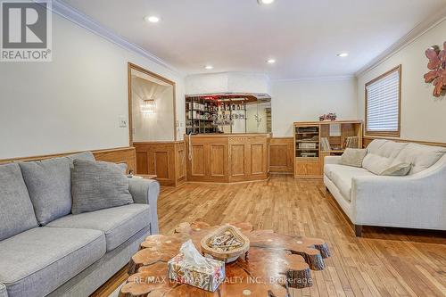
[[[0,283],[8,297],[45,296],[101,259],[98,230],[37,227],[0,242]]]

